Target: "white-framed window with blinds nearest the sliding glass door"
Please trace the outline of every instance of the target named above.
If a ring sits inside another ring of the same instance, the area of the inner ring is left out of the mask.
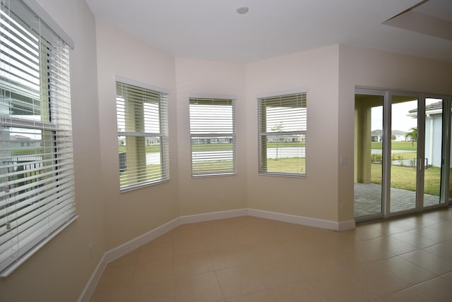
[[[305,178],[307,176],[307,91],[271,92],[257,95],[256,99],[258,101],[258,173]],[[268,110],[270,108],[274,110]],[[287,130],[283,130],[285,127]],[[287,144],[290,141],[299,146],[292,147],[290,151],[278,146],[280,142]],[[277,146],[273,147],[276,151],[270,152],[268,143],[276,143]],[[287,171],[268,169],[268,159],[278,160],[285,157],[285,152],[287,157],[294,158],[294,167]]]

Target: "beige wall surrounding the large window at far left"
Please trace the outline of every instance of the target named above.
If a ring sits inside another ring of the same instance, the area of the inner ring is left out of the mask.
[[[0,280],[0,301],[76,301],[105,253],[100,188],[95,20],[85,1],[38,0],[74,40],[71,99],[76,207],[80,217]],[[94,243],[90,258],[89,244]]]

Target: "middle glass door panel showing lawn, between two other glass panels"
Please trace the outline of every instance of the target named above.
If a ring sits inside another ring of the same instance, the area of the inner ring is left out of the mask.
[[[417,97],[391,98],[391,213],[416,209]]]

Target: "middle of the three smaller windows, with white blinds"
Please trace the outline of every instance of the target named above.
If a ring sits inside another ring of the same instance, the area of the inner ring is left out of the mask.
[[[234,99],[190,98],[191,175],[236,174]]]

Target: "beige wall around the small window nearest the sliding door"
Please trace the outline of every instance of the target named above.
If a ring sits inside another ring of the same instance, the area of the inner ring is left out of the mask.
[[[256,95],[307,90],[307,178],[258,175]],[[337,221],[338,46],[258,61],[246,66],[248,205]]]

